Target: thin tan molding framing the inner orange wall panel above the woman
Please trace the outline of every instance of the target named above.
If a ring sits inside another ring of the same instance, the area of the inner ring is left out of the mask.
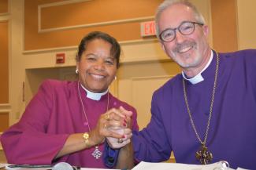
[[[134,23],[134,22],[145,22],[148,20],[154,20],[154,16],[145,16],[145,17],[137,17],[137,18],[131,18],[131,19],[125,19],[125,20],[109,20],[105,22],[98,22],[98,23],[92,23],[92,24],[80,24],[80,25],[73,25],[69,27],[54,27],[54,28],[47,28],[42,29],[41,27],[41,11],[43,8],[57,6],[57,5],[67,5],[72,3],[80,3],[80,2],[87,2],[91,0],[69,0],[65,2],[54,2],[44,5],[38,5],[38,32],[39,33],[46,33],[46,32],[53,32],[53,31],[64,31],[64,30],[71,30],[81,27],[98,27],[98,26],[106,26],[106,25],[112,25],[112,24],[128,24],[128,23]]]

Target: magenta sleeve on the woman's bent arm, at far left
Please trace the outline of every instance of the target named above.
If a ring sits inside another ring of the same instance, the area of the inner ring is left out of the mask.
[[[50,165],[69,134],[48,132],[54,92],[44,82],[28,104],[20,121],[1,136],[3,150],[10,164]],[[65,161],[66,157],[62,157]]]

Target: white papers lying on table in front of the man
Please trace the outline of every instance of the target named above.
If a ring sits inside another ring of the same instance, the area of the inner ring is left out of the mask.
[[[220,162],[216,162],[210,165],[187,165],[187,164],[177,164],[177,163],[151,163],[141,161],[139,165],[136,165],[132,170],[221,170]],[[237,168],[237,170],[242,170],[243,168]],[[227,170],[234,170],[232,168],[227,168]]]

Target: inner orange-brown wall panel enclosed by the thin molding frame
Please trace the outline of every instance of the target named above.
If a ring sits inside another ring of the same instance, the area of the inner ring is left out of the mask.
[[[145,1],[131,0],[121,0],[120,2],[117,2],[117,0],[67,2],[70,1],[39,5],[41,11],[39,20],[42,29],[112,23],[118,20],[153,16],[154,8],[150,6],[158,5],[159,1],[150,2],[150,6],[144,5],[143,2]]]

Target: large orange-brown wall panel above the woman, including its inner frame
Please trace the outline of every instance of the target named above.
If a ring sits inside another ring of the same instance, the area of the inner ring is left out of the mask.
[[[120,42],[142,39],[140,37],[140,22],[149,20],[148,17],[152,20],[155,9],[161,0],[150,1],[150,3],[147,0],[81,0],[68,5],[55,5],[54,3],[50,6],[53,2],[62,1],[25,0],[24,50],[78,45],[80,38],[90,31],[105,31]],[[146,19],[138,20],[141,17],[146,17]],[[112,21],[118,22],[111,23]],[[74,27],[93,23],[106,24],[98,24],[94,27]],[[40,32],[41,25],[48,31]],[[69,29],[49,31],[49,29],[58,27],[69,27]]]

